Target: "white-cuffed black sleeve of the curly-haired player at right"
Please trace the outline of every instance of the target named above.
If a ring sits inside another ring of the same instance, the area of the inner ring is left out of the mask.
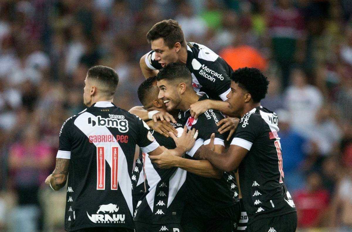
[[[254,140],[260,136],[262,130],[262,118],[255,114],[246,114],[241,118],[240,123],[237,126],[231,145],[237,145],[250,150]]]

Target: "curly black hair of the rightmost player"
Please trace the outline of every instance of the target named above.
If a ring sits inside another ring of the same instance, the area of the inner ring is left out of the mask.
[[[231,79],[242,89],[247,90],[254,102],[260,102],[268,92],[269,81],[263,73],[256,68],[244,67],[231,74]]]

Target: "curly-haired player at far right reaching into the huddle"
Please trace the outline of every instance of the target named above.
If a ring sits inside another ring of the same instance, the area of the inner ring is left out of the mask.
[[[239,168],[247,231],[294,232],[297,214],[284,185],[278,118],[260,106],[269,82],[258,69],[247,67],[231,78],[228,108],[241,118],[231,146],[225,154],[202,148],[200,157],[226,172]]]

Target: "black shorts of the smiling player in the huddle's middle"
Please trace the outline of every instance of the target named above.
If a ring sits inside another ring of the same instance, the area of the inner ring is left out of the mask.
[[[220,209],[186,206],[182,213],[181,226],[184,232],[232,232],[238,223],[240,204]]]

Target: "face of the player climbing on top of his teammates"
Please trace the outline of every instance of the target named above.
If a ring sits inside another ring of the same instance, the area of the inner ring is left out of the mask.
[[[178,44],[171,49],[165,44],[163,38],[158,38],[151,41],[152,50],[155,51],[155,60],[157,60],[162,67],[166,64],[177,62],[178,54],[177,51],[180,50]]]

